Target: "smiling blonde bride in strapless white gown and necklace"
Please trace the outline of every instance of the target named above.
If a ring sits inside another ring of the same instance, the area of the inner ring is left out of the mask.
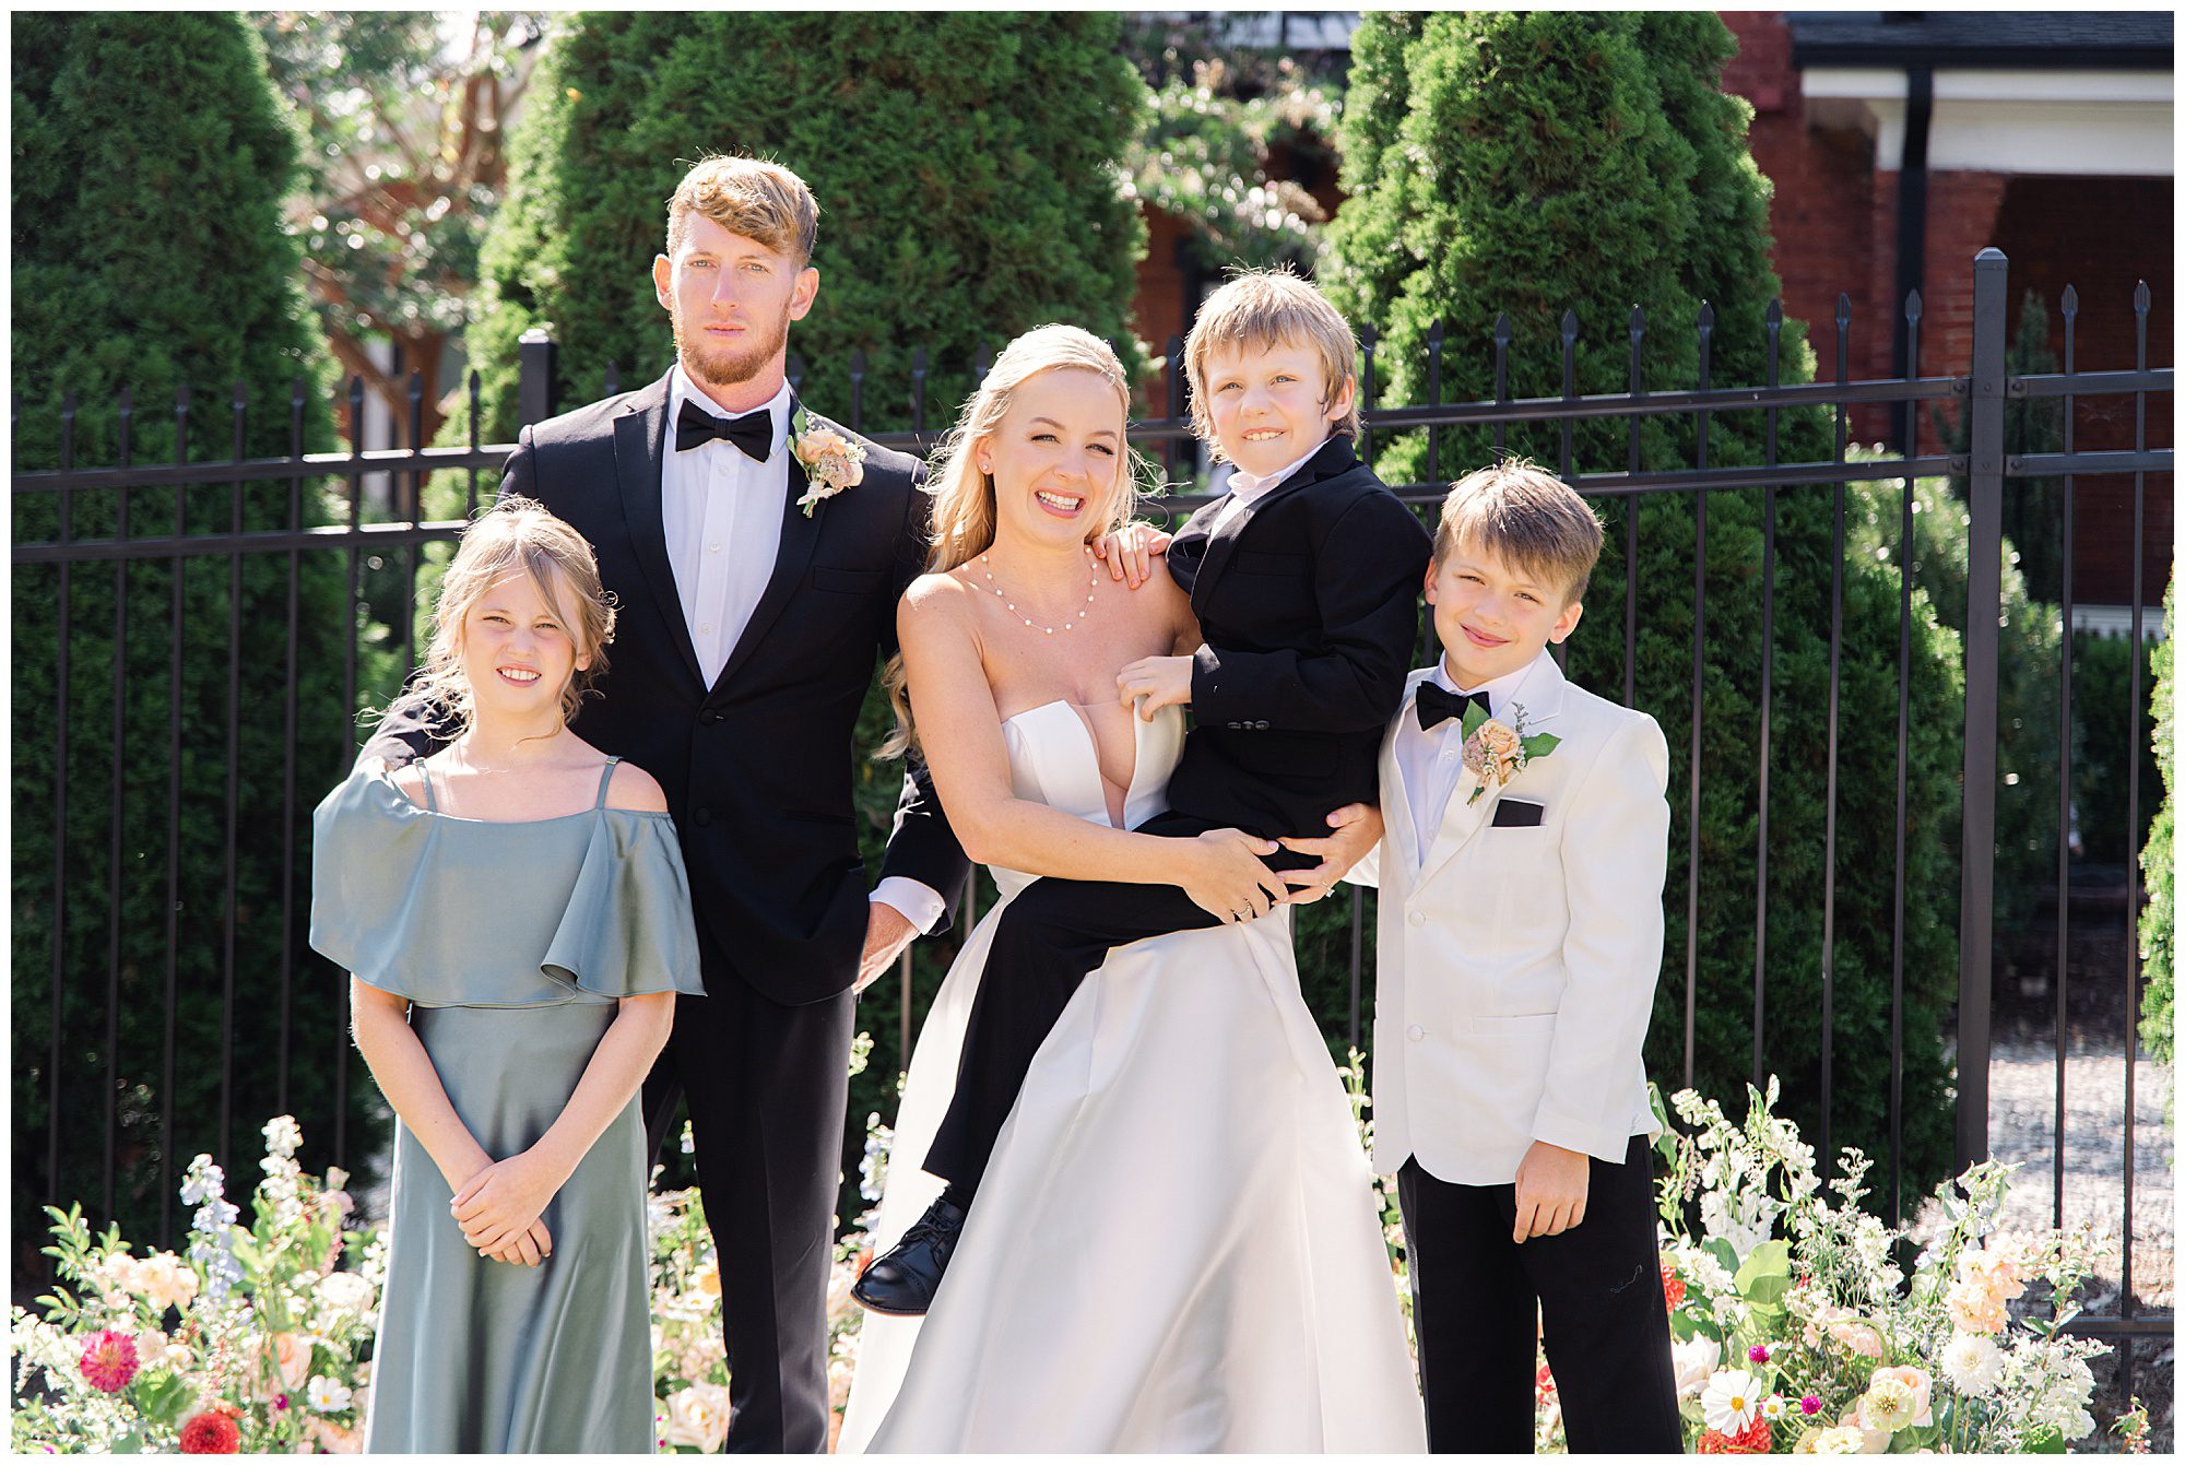
[[[1235,918],[1285,890],[1259,862],[1274,844],[1127,833],[1165,807],[1184,728],[1173,706],[1141,719],[1117,671],[1193,649],[1197,623],[1165,573],[1138,593],[1095,573],[1088,542],[1132,509],[1125,411],[1121,363],[1075,326],[1018,337],[972,394],[935,474],[933,573],[898,614],[898,743],[1003,903],[1055,875],[1171,883]],[[999,910],[911,1056],[876,1249],[942,1189],[920,1165]],[[1287,905],[1119,949],[1077,988],[931,1312],[865,1316],[841,1450],[1425,1450]]]

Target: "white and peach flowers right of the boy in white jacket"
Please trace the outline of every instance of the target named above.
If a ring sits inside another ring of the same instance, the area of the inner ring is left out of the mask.
[[[1886,1227],[1859,1209],[1862,1152],[1822,1185],[1798,1126],[1770,1113],[1776,1082],[1746,1093],[1741,1124],[1676,1093],[1691,1133],[1661,1139],[1663,1281],[1698,1454],[2017,1454],[2093,1432],[2087,1362],[2109,1349],[2063,1332],[2098,1255],[2087,1231],[1995,1235],[2015,1170],[1995,1161],[1936,1187],[1923,1224]]]

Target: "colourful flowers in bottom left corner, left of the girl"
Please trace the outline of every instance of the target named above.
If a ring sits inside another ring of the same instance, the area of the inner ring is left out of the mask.
[[[358,1450],[385,1244],[347,1229],[343,1172],[302,1172],[293,1117],[264,1139],[249,1229],[221,1168],[190,1163],[186,1255],[133,1255],[114,1227],[94,1238],[81,1207],[48,1207],[59,1279],[42,1316],[15,1308],[9,1329],[13,1450]]]

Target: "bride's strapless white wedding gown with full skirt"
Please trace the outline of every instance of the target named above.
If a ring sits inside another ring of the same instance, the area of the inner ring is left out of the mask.
[[[1125,824],[1165,807],[1182,713],[1132,719]],[[1018,798],[1106,822],[1068,702],[1003,722]],[[876,1249],[926,1209],[996,916],[911,1056]],[[865,1314],[843,1452],[1420,1452],[1425,1421],[1342,1080],[1289,912],[1123,947],[1001,1130],[933,1312]]]

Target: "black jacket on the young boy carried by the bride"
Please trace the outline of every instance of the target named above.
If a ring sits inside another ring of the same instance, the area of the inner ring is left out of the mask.
[[[1324,835],[1331,809],[1379,802],[1433,538],[1348,437],[1210,534],[1224,505],[1169,544],[1206,636],[1169,807],[1269,840]]]

